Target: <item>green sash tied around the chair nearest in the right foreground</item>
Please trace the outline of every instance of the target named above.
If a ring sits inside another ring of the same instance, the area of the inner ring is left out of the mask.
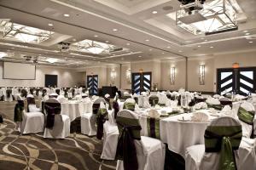
[[[219,152],[218,170],[236,170],[234,150],[241,143],[241,126],[207,127],[205,133],[206,152]]]

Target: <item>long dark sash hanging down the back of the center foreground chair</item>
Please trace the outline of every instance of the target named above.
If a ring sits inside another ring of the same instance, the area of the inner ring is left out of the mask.
[[[125,170],[137,170],[137,151],[134,144],[134,138],[131,130],[141,130],[141,126],[126,126],[120,122],[117,124],[122,127],[121,133],[119,134],[119,141],[116,151],[116,159],[124,161]]]

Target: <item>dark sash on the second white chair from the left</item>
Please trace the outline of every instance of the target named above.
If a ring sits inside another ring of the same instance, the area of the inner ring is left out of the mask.
[[[61,104],[45,102],[44,109],[47,113],[46,127],[51,129],[55,124],[55,115],[61,114]]]

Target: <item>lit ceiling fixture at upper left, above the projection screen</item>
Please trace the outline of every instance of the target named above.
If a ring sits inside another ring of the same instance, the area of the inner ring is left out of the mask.
[[[48,40],[53,31],[45,31],[31,26],[15,24],[9,20],[0,20],[0,31],[3,38],[15,39],[20,42],[40,43]]]

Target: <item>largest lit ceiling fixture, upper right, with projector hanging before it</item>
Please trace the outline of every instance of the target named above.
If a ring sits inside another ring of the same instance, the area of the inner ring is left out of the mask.
[[[230,0],[187,2],[176,11],[176,25],[184,30],[195,35],[237,30],[237,14]],[[173,14],[169,15],[171,18],[172,16]]]

